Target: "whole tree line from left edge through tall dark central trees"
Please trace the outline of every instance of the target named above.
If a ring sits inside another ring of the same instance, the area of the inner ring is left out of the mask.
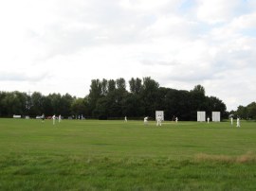
[[[228,117],[225,103],[215,96],[206,96],[205,88],[195,85],[191,91],[160,87],[150,77],[131,78],[127,90],[124,78],[92,79],[89,94],[83,98],[65,94],[39,92],[0,92],[0,116],[13,114],[36,116],[62,114],[64,117],[83,115],[85,118],[111,119],[127,116],[155,118],[155,111],[164,111],[165,119],[196,120],[197,111],[221,112]]]

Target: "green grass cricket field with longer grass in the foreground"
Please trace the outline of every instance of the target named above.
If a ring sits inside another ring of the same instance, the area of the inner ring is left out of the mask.
[[[0,119],[0,190],[256,190],[256,124]]]

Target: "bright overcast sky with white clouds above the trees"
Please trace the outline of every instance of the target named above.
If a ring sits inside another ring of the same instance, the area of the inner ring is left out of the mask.
[[[84,97],[91,79],[151,77],[236,110],[256,101],[256,1],[1,1],[0,66],[0,91]]]

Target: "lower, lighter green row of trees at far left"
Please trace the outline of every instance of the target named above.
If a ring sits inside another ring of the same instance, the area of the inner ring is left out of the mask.
[[[0,92],[0,116],[29,115],[36,116],[45,113],[52,115],[60,113],[68,116],[76,113],[76,103],[80,99],[68,94],[50,94],[43,96],[41,93],[34,92],[31,96],[20,92]]]

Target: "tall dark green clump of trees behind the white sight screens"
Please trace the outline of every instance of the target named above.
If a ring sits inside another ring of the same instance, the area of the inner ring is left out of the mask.
[[[125,80],[93,79],[86,97],[87,115],[101,118],[155,116],[155,111],[164,111],[166,119],[178,116],[181,120],[196,120],[197,111],[221,112],[227,116],[226,105],[217,97],[205,96],[205,89],[196,85],[192,91],[159,87],[152,78],[131,78],[130,91]]]

